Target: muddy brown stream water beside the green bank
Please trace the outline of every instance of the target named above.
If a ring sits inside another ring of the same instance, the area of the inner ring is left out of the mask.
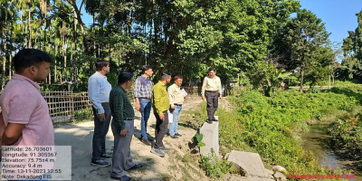
[[[350,181],[362,181],[362,174],[358,172],[349,173],[347,169],[351,164],[348,160],[338,160],[338,157],[329,148],[329,136],[327,135],[327,128],[329,122],[314,124],[310,126],[310,131],[303,135],[302,139],[303,148],[311,151],[313,155],[319,160],[319,164],[324,167],[332,167],[333,169],[346,170],[344,174],[350,176],[354,175],[355,179],[348,179]],[[353,168],[352,168],[353,169]],[[347,180],[347,179],[346,179]]]

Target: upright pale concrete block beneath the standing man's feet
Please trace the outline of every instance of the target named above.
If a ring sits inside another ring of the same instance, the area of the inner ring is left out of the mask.
[[[218,116],[214,118],[219,119]],[[202,141],[205,143],[205,146],[200,148],[200,154],[211,157],[211,148],[213,148],[215,155],[219,157],[219,121],[213,121],[212,124],[205,122],[199,134],[203,134]]]

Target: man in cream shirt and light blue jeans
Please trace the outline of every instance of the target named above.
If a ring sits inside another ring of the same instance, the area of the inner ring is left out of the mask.
[[[180,90],[183,78],[180,75],[176,75],[174,78],[174,84],[168,87],[168,100],[170,104],[170,113],[172,116],[172,122],[170,123],[169,135],[171,138],[181,137],[181,134],[177,131],[178,119],[180,119],[180,113],[182,110],[182,104],[184,103],[184,94]],[[177,137],[178,136],[178,137]]]

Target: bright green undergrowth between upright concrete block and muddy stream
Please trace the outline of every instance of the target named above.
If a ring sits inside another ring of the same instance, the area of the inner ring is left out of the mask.
[[[313,93],[315,92],[315,93]],[[338,82],[331,90],[300,93],[280,90],[265,97],[257,90],[243,90],[230,99],[233,112],[218,109],[220,147],[251,150],[286,167],[294,175],[341,174],[319,166],[300,143],[300,133],[308,130],[307,122],[351,112],[362,102],[362,85]],[[193,114],[195,125],[205,121],[205,103]],[[222,154],[224,154],[222,153]]]

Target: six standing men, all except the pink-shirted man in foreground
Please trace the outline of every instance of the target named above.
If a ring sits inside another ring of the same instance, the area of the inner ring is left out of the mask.
[[[110,164],[103,159],[112,159],[111,177],[119,180],[131,180],[126,175],[125,170],[138,169],[141,165],[135,164],[130,156],[130,142],[134,131],[135,112],[126,90],[133,82],[133,73],[120,72],[118,85],[110,89],[106,73],[110,72],[110,63],[104,60],[96,62],[96,72],[90,76],[88,81],[89,98],[93,105],[94,113],[94,135],[93,154],[91,165],[107,167]],[[175,76],[174,84],[168,87],[171,81],[171,74],[162,72],[159,81],[153,86],[150,77],[153,74],[152,67],[142,66],[142,74],[136,79],[133,90],[136,110],[141,113],[141,137],[142,143],[152,146],[148,138],[147,127],[151,108],[156,118],[155,143],[150,152],[159,157],[165,157],[165,153],[170,149],[163,143],[163,138],[167,134],[169,124],[169,113],[172,114],[168,134],[171,138],[178,138],[182,135],[177,131],[178,119],[182,110],[182,105],[186,94],[180,89],[183,77]],[[218,98],[222,97],[220,78],[215,76],[216,70],[211,68],[209,76],[203,82],[202,96],[207,101],[208,123],[216,121],[214,112],[217,109]],[[108,93],[110,92],[110,93]],[[110,126],[114,136],[113,155],[106,153],[105,139]]]

